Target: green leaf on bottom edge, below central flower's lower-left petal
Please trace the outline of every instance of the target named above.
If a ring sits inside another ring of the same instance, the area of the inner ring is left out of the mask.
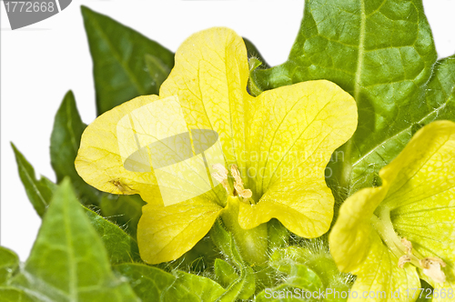
[[[144,302],[151,301],[215,301],[223,292],[216,282],[197,275],[175,271],[174,275],[157,267],[122,264],[115,267],[127,277]]]

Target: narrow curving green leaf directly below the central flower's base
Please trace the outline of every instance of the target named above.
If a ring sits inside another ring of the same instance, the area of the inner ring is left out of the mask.
[[[240,256],[234,237],[221,226],[219,219],[210,230],[210,236],[215,245],[227,256],[229,262],[238,271],[238,278],[226,287],[226,292],[217,301],[235,301],[238,298],[248,299],[254,294],[256,289],[255,274],[253,269]]]

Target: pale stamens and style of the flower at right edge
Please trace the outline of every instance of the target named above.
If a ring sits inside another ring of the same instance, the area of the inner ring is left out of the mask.
[[[444,261],[438,257],[422,257],[417,250],[412,248],[412,243],[408,239],[399,237],[390,220],[389,208],[382,208],[379,216],[371,216],[370,221],[389,250],[399,258],[399,268],[410,263],[422,269],[423,273],[435,282],[444,283],[446,281],[446,276],[440,268],[446,266]]]

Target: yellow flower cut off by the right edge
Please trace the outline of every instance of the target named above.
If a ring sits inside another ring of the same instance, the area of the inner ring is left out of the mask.
[[[415,301],[420,277],[435,288],[434,301],[454,298],[454,163],[455,124],[431,123],[380,170],[382,186],[344,202],[329,245],[339,269],[358,275],[351,291]]]

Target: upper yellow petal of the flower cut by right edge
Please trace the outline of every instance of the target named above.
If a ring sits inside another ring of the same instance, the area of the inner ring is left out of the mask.
[[[379,176],[390,183],[383,205],[397,216],[409,211],[449,206],[455,194],[455,123],[424,126]],[[453,206],[453,202],[451,203]]]

